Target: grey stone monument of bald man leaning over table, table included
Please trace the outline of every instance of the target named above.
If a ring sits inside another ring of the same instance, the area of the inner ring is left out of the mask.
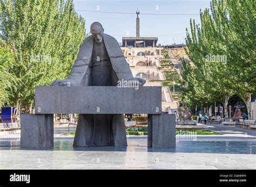
[[[66,80],[35,88],[35,114],[21,117],[21,147],[53,147],[55,113],[79,113],[73,146],[127,146],[123,114],[138,113],[147,114],[147,147],[174,148],[175,116],[161,112],[161,87],[142,87],[145,80],[132,76],[100,23],[91,25],[91,34]],[[120,81],[129,87],[120,88]]]

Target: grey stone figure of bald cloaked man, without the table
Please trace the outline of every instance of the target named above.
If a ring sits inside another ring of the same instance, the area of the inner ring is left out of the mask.
[[[104,34],[102,24],[94,22],[90,29],[68,79],[52,85],[117,86],[121,80],[143,85],[145,80],[132,76],[117,40]],[[79,114],[73,146],[127,146],[123,114]]]

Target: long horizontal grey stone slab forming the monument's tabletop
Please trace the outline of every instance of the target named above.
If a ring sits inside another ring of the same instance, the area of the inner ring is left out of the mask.
[[[36,87],[35,113],[160,114],[161,87]]]

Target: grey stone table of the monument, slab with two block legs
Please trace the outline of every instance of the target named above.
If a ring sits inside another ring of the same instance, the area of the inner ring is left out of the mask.
[[[35,114],[22,114],[21,147],[53,147],[54,113],[148,114],[148,147],[176,145],[175,116],[161,112],[161,87],[36,87]]]

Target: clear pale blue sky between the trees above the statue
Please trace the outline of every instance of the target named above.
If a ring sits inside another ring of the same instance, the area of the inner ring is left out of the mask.
[[[199,10],[210,8],[210,0],[74,0],[76,10],[130,12],[136,13],[178,13],[197,14],[185,16],[139,15],[140,36],[158,37],[158,44],[185,44],[185,30],[190,27],[190,18],[199,23]],[[157,10],[158,8],[158,10]],[[118,42],[129,31],[130,37],[136,36],[137,15],[119,13],[100,13],[77,11],[86,21],[86,32],[94,21],[102,23],[105,33],[112,35]]]

